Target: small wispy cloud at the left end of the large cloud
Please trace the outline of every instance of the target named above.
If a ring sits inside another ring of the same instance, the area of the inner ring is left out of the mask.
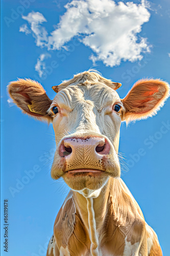
[[[23,16],[22,18],[27,20],[27,22],[31,26],[31,30],[33,32],[33,36],[36,38],[36,45],[40,47],[46,46],[46,42],[48,41],[48,33],[45,28],[41,26],[43,22],[46,22],[44,16],[39,12],[30,12],[28,16]]]

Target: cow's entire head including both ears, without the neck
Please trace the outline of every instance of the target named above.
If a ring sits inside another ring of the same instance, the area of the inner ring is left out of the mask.
[[[156,114],[169,92],[166,82],[139,80],[120,99],[116,92],[120,86],[88,71],[54,86],[54,100],[30,79],[19,79],[8,87],[23,113],[53,123],[57,148],[52,178],[63,177],[71,189],[87,197],[98,196],[109,177],[120,176],[121,121]]]

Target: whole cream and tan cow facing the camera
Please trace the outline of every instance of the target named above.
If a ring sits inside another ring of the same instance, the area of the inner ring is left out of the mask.
[[[53,123],[51,176],[70,187],[47,256],[162,255],[156,233],[120,178],[118,144],[121,122],[155,115],[169,86],[160,79],[138,80],[120,99],[121,85],[89,70],[53,86],[53,100],[31,79],[8,86],[23,113]]]

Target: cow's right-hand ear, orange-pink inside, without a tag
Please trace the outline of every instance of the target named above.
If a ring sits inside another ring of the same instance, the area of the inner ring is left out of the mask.
[[[126,122],[145,119],[157,113],[169,96],[168,83],[159,79],[139,80],[122,100]]]

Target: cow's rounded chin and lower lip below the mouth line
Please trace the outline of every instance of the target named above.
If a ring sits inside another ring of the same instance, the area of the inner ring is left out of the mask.
[[[101,170],[84,170],[82,172],[66,172],[63,175],[65,183],[73,190],[80,191],[85,188],[98,190],[102,188],[109,178],[108,173]]]

